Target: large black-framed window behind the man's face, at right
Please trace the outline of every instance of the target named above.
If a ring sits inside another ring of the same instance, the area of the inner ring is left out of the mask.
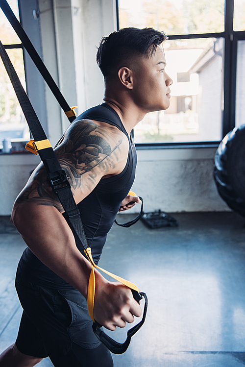
[[[171,106],[135,127],[138,146],[217,145],[235,116],[245,123],[245,0],[118,0],[118,15],[119,28],[152,26],[169,37]]]

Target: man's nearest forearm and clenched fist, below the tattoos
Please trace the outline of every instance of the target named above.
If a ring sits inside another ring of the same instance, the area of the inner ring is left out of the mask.
[[[90,262],[79,252],[71,228],[54,206],[18,202],[12,221],[26,245],[51,270],[75,287],[86,299]],[[108,282],[96,271],[95,319],[110,330],[124,327],[141,315],[139,304],[122,284]]]

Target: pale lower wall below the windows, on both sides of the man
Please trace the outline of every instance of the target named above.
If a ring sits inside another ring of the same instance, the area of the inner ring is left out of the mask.
[[[213,180],[214,148],[138,150],[132,190],[143,197],[146,212],[230,210]],[[40,162],[34,154],[0,155],[0,215],[9,215],[29,173]],[[139,210],[136,205],[132,213]]]

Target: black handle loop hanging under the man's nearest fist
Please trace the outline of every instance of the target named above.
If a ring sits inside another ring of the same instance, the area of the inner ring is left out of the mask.
[[[138,294],[138,298],[141,297],[140,299],[142,299],[142,296],[145,298],[145,306],[144,306],[144,311],[143,311],[143,317],[142,317],[142,320],[137,325],[133,326],[130,330],[128,330],[127,339],[125,340],[124,343],[116,342],[115,340],[110,338],[107,334],[105,334],[105,332],[103,330],[100,329],[101,325],[99,325],[97,322],[93,323],[93,330],[94,330],[94,333],[96,334],[97,338],[100,340],[101,343],[103,343],[114,354],[122,354],[127,350],[128,345],[130,344],[132,336],[141,328],[141,326],[144,324],[146,316],[147,316],[147,306],[148,306],[147,295],[144,292],[138,293],[138,292],[132,290],[134,298],[136,296],[136,294],[134,294],[134,292],[136,294]]]

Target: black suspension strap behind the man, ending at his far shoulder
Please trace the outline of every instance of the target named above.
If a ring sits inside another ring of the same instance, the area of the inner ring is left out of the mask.
[[[32,45],[30,39],[28,38],[27,34],[25,33],[25,30],[23,29],[22,25],[14,15],[12,9],[10,8],[9,4],[6,0],[0,0],[0,7],[3,11],[3,13],[6,15],[9,23],[12,25],[14,30],[16,31],[18,37],[20,38],[23,46],[25,47],[26,51],[30,55],[32,61],[36,65],[39,72],[42,74],[44,80],[48,84],[50,90],[52,91],[54,97],[57,99],[57,101],[60,104],[60,107],[65,112],[68,120],[70,122],[73,122],[75,120],[75,107],[70,107],[67,101],[65,100],[64,96],[60,92],[59,88],[57,87],[55,81],[53,80],[52,76],[50,75],[48,69],[44,65],[43,60],[35,50],[34,46]]]

